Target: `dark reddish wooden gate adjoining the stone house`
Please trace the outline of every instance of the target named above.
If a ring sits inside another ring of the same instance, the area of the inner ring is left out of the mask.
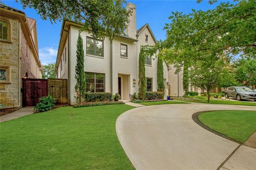
[[[22,79],[22,106],[35,106],[39,98],[47,96],[47,80]]]

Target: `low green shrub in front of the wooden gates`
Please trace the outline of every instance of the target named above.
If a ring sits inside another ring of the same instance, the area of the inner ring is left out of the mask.
[[[52,109],[55,106],[56,99],[51,97],[50,95],[39,98],[40,103],[35,106],[35,109],[38,112],[45,112]]]

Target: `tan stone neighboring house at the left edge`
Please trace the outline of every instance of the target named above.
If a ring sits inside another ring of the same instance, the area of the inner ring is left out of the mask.
[[[36,20],[0,5],[0,108],[21,107],[22,78],[42,78]]]

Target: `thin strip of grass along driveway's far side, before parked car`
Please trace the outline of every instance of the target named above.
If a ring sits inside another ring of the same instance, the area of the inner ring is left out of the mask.
[[[207,99],[200,100],[176,100],[176,101],[187,101],[195,103],[205,103],[207,104]],[[256,106],[256,102],[246,102],[246,101],[230,101],[230,100],[215,100],[211,99],[209,104],[222,104],[222,105],[244,105],[244,106]]]

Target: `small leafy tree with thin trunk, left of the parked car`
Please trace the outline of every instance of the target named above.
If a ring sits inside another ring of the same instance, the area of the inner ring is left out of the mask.
[[[207,91],[208,103],[210,102],[210,90],[218,86],[220,74],[226,63],[222,57],[219,60],[212,60],[212,58],[211,55],[207,55],[202,60],[196,61],[189,69],[191,84]]]

